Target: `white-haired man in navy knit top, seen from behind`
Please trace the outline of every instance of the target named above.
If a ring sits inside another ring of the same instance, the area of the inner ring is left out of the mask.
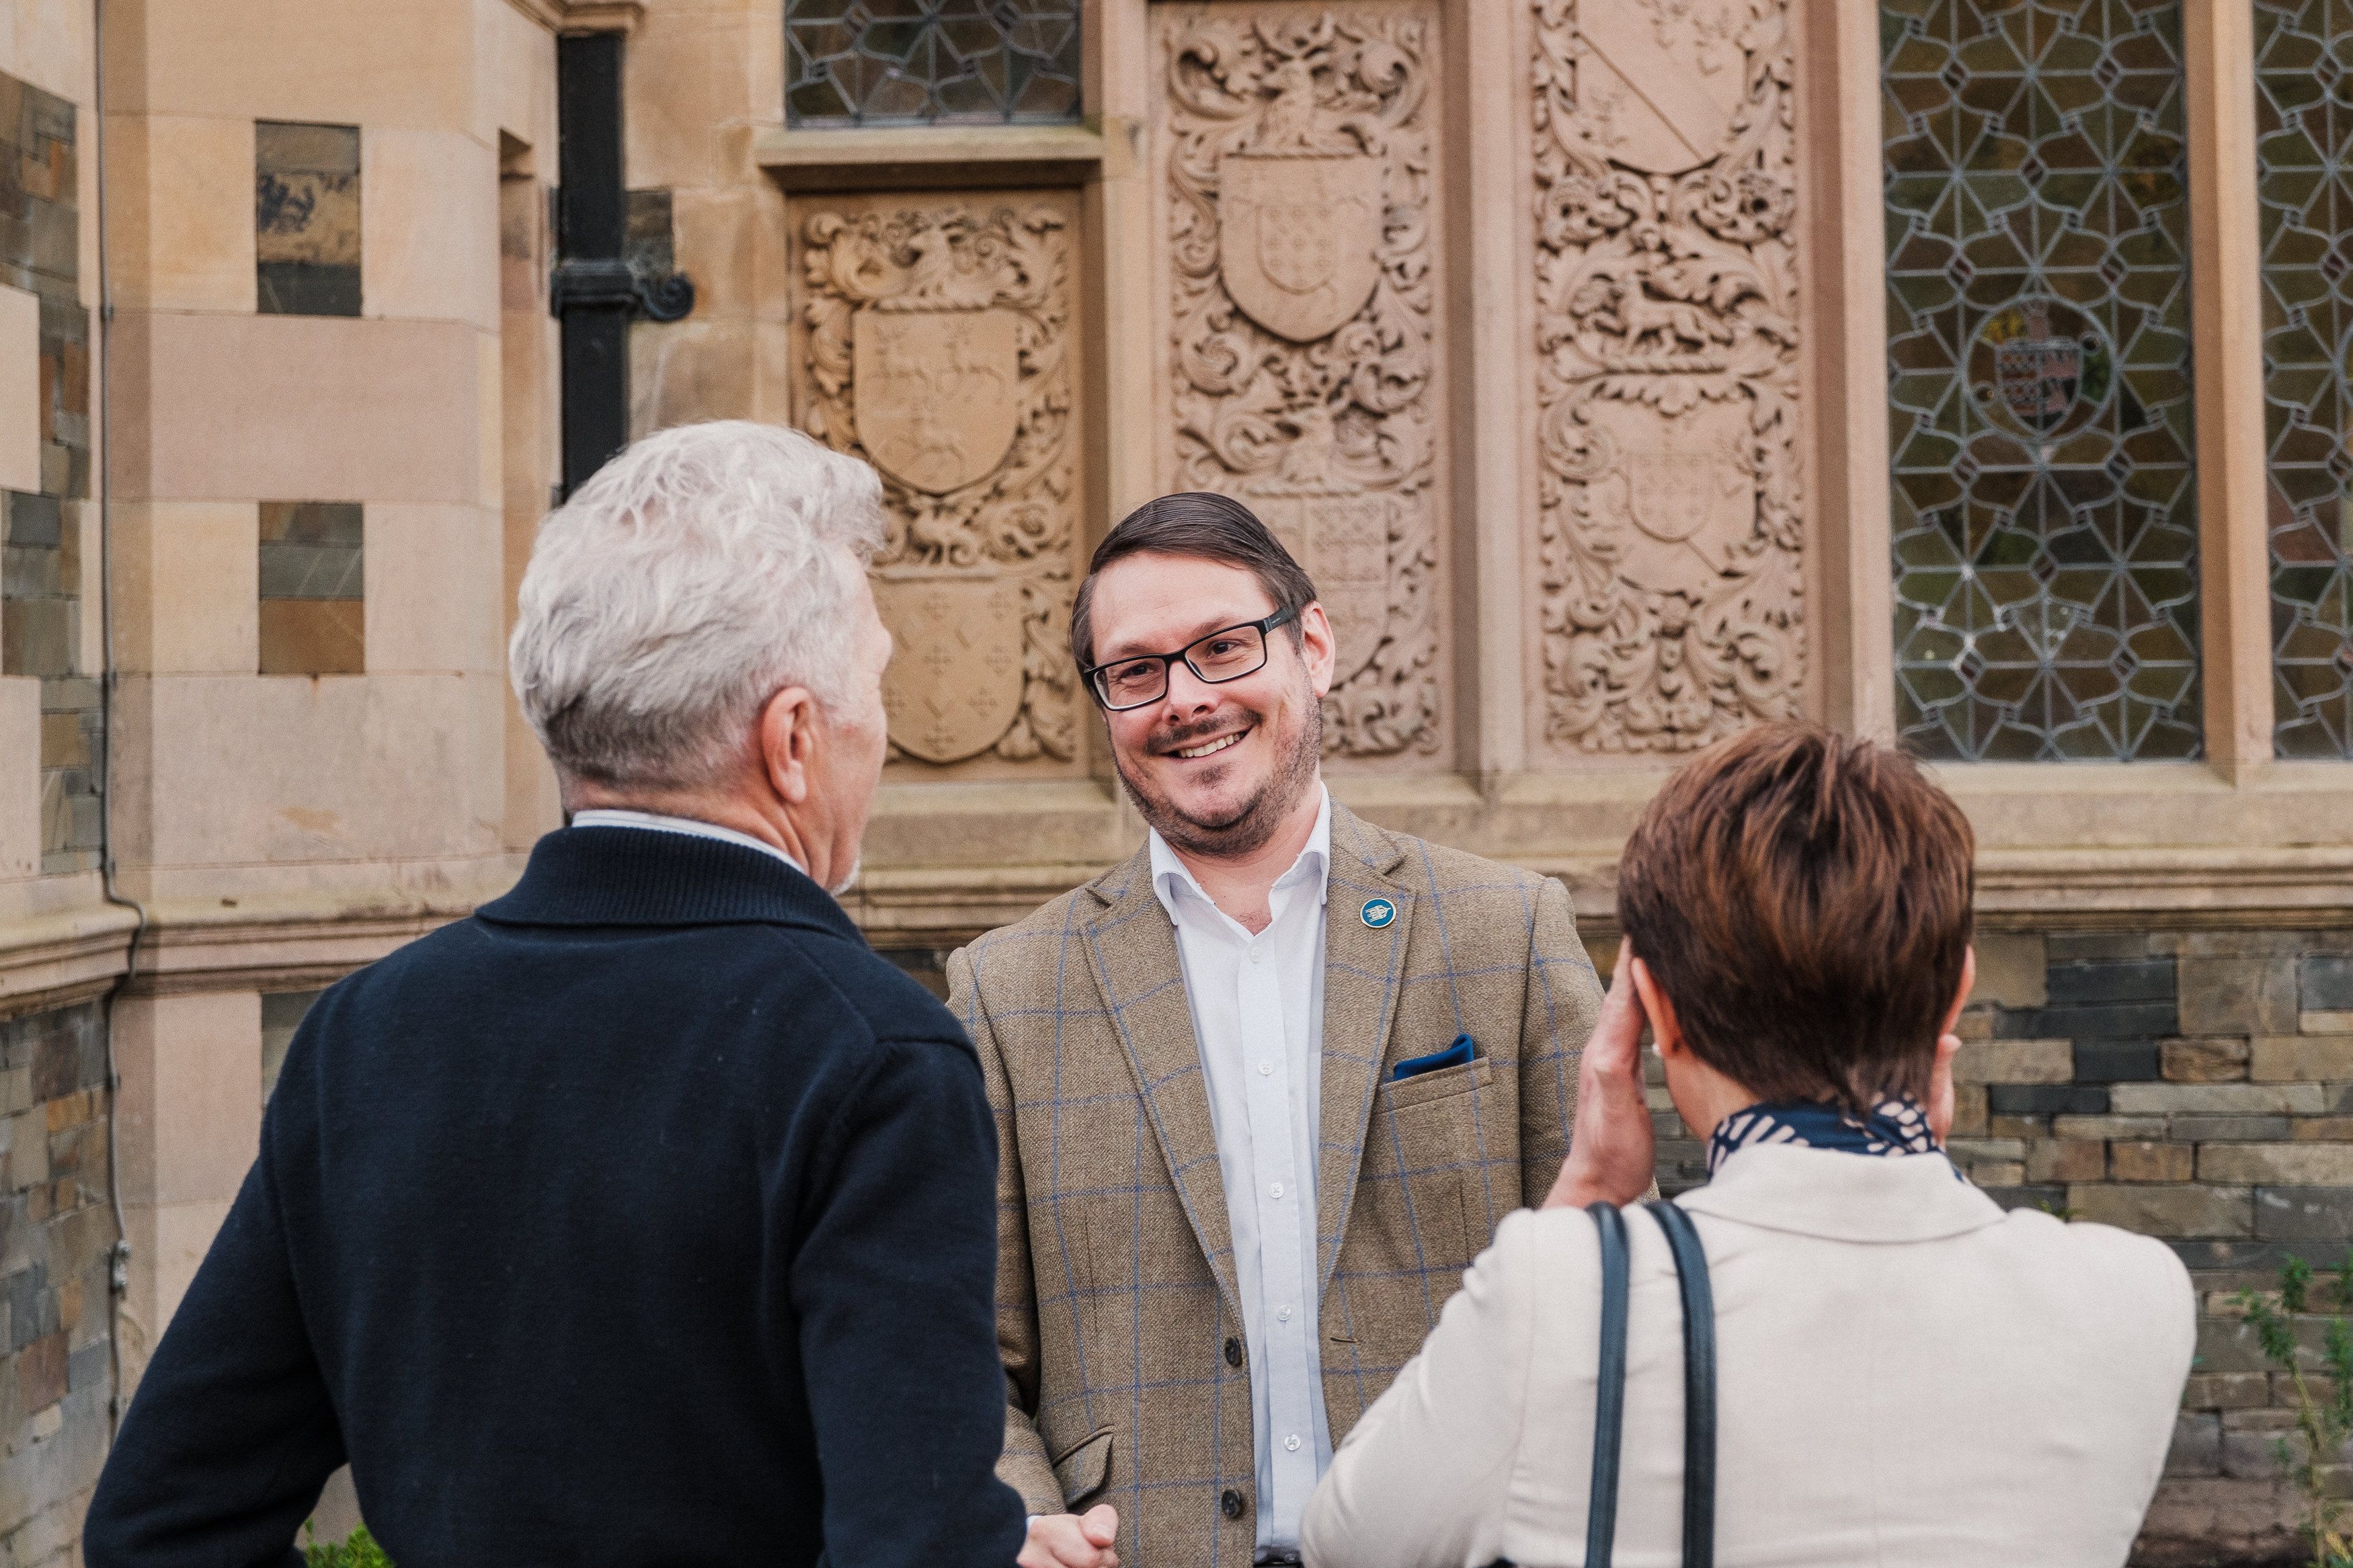
[[[638,442],[539,531],[511,661],[572,825],[329,990],[139,1385],[92,1568],[1005,1568],[979,1060],[828,898],[882,769],[873,470]]]

